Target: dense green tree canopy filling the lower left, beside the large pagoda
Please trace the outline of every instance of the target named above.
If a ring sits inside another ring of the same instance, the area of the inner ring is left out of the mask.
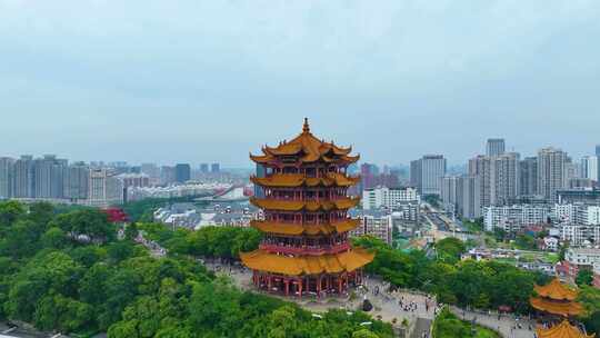
[[[246,292],[191,255],[232,259],[258,245],[253,229],[171,231],[140,225],[172,255],[156,258],[92,209],[0,202],[0,319],[109,338],[392,337],[366,314],[321,319],[294,304]],[[360,326],[372,321],[371,336]],[[359,334],[357,334],[359,335]]]

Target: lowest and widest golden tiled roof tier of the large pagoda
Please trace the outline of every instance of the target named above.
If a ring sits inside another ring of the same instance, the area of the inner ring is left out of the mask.
[[[247,267],[253,270],[301,276],[353,271],[371,262],[374,254],[361,248],[354,248],[337,255],[287,257],[268,254],[259,249],[240,254],[240,258]]]

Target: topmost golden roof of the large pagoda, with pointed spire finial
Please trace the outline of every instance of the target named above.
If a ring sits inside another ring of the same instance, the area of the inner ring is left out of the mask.
[[[332,161],[346,161],[356,162],[359,157],[349,156],[352,151],[352,147],[341,148],[333,142],[326,142],[316,138],[311,132],[308,125],[308,120],[304,119],[304,126],[302,133],[294,139],[281,142],[278,147],[263,147],[262,152],[264,156],[253,156],[250,158],[259,163],[266,163],[274,160],[278,156],[301,156],[299,160],[301,162],[314,162],[323,160],[326,162]]]

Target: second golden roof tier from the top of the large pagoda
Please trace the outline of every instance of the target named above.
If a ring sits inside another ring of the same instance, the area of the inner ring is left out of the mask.
[[[343,173],[330,172],[327,177],[312,178],[306,177],[302,173],[276,173],[267,178],[250,177],[250,180],[259,186],[282,188],[282,187],[316,187],[316,186],[338,186],[351,187],[360,181],[359,177],[348,177]]]

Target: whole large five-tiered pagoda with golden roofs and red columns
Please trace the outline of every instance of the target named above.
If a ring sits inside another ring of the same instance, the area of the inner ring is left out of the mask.
[[[348,239],[360,222],[349,218],[348,210],[360,199],[347,192],[360,178],[348,176],[347,169],[359,156],[319,140],[308,119],[298,137],[274,148],[264,146],[262,152],[250,155],[264,168],[264,175],[251,177],[260,189],[250,201],[263,211],[251,226],[264,236],[259,249],[240,254],[253,270],[254,286],[286,296],[321,297],[361,284],[362,267],[374,254],[352,248]]]

